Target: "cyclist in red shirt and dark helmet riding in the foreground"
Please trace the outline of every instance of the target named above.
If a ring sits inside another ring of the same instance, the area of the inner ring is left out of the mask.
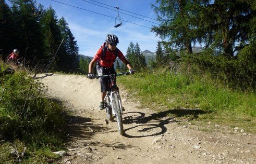
[[[109,75],[109,74],[116,74],[114,68],[114,62],[118,57],[121,61],[125,63],[128,67],[130,74],[134,73],[129,61],[125,58],[124,54],[116,48],[117,44],[119,43],[118,37],[114,34],[108,34],[105,39],[106,42],[99,48],[93,57],[92,61],[89,64],[89,74],[88,77],[90,79],[94,78],[92,73],[92,67],[96,64],[97,74],[99,76],[102,75]],[[105,49],[104,49],[105,48]],[[104,52],[105,51],[105,52]],[[109,77],[100,77],[101,83],[101,103],[100,103],[100,110],[104,109],[104,98],[106,96],[106,92],[110,90],[108,86]]]

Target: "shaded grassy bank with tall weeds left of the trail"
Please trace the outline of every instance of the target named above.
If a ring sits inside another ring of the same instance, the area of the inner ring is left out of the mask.
[[[25,72],[0,72],[1,163],[54,163],[59,158],[53,152],[64,149],[66,113],[46,90]]]

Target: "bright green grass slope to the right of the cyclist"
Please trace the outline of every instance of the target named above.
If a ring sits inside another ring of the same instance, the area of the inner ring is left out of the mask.
[[[123,76],[118,82],[140,100],[141,106],[156,113],[168,111],[170,117],[191,120],[198,125],[211,121],[256,132],[255,93],[228,88],[210,74],[199,76],[160,69]]]

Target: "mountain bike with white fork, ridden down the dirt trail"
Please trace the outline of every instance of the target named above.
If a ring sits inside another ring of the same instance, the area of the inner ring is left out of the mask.
[[[121,97],[119,94],[119,88],[116,85],[116,76],[120,75],[130,75],[129,72],[118,73],[118,74],[109,74],[103,76],[96,76],[95,78],[99,77],[109,77],[109,88],[110,91],[107,91],[106,97],[104,98],[104,107],[106,110],[107,118],[111,121],[114,120],[114,116],[116,117],[117,125],[118,125],[118,132],[121,135],[124,135],[124,127],[123,127],[123,108],[121,104]]]

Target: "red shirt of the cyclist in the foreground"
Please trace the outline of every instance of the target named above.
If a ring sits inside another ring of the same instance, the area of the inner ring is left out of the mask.
[[[101,57],[102,57],[102,52],[103,52],[102,48],[103,47],[104,47],[104,45],[102,45],[101,48],[99,48],[99,50],[97,50],[93,59],[100,60],[99,64],[101,66],[107,67],[109,69],[114,64],[115,59],[116,59],[115,50],[111,50],[111,49],[107,48],[105,58],[104,58],[104,60],[102,60]],[[119,49],[118,49],[118,58],[120,60],[125,59],[124,54]]]

